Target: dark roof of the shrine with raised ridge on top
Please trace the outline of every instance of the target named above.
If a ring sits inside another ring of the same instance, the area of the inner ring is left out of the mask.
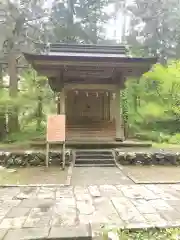
[[[45,45],[44,45],[45,46]],[[142,62],[154,64],[156,58],[134,58],[128,56],[125,46],[105,46],[105,45],[67,45],[50,44],[44,47],[41,53],[24,53],[25,58],[32,62],[42,61],[92,61],[92,62]]]

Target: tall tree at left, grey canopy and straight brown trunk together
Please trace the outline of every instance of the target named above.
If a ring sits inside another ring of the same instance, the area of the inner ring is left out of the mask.
[[[9,95],[16,98],[18,95],[17,59],[24,49],[34,48],[34,42],[41,38],[42,19],[45,11],[41,0],[33,1],[6,1],[1,4],[2,18],[1,30],[4,31],[3,48],[4,59],[8,63]],[[1,54],[2,55],[2,54]],[[8,128],[10,132],[17,131],[18,112],[15,107],[9,109]]]

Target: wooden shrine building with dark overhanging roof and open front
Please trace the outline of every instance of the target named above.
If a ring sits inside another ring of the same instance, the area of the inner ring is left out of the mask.
[[[120,91],[127,77],[140,77],[156,63],[129,57],[124,46],[51,44],[24,55],[59,93],[67,141],[123,141]]]

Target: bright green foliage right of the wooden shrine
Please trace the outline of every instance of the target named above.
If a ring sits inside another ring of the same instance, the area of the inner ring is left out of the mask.
[[[179,143],[180,62],[156,64],[141,79],[126,84],[130,135],[141,140]]]

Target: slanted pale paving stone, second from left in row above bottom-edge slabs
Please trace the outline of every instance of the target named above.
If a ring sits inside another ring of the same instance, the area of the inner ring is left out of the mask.
[[[33,208],[24,223],[24,227],[49,226],[53,216],[52,208]]]

